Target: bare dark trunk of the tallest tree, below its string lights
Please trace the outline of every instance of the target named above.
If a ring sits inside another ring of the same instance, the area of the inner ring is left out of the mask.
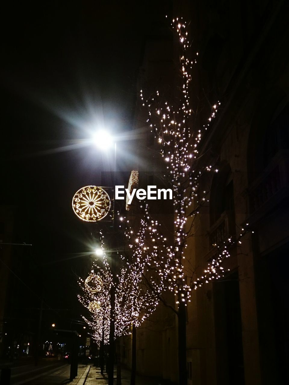
[[[186,306],[184,302],[179,303],[178,307],[178,364],[179,364],[179,384],[187,385],[187,320]]]

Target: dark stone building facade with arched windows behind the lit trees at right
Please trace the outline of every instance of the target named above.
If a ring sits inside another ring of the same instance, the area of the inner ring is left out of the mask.
[[[230,273],[193,292],[187,309],[188,383],[285,384],[289,382],[288,3],[176,2],[175,12],[192,21],[193,47],[199,53],[193,81],[202,107],[200,124],[210,105],[221,102],[202,141],[202,153],[213,154],[219,171],[209,181],[209,203],[186,258],[198,275],[216,253],[213,244],[238,236],[245,223],[253,231],[240,247],[230,250],[224,263]],[[151,76],[157,82],[174,74],[176,44],[161,34],[148,42],[141,68],[148,88]],[[141,114],[135,128],[145,130]],[[157,158],[150,156],[140,161],[139,168],[156,171],[157,164]],[[177,382],[177,320],[161,306],[153,317],[160,322],[137,331],[137,371]],[[129,365],[129,339],[123,346]]]

